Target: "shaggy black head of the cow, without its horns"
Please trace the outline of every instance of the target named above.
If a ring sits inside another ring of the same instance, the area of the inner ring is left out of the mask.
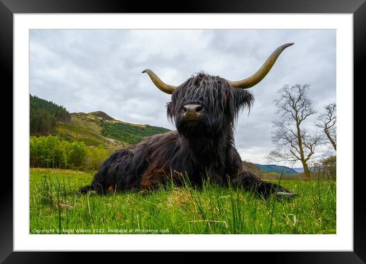
[[[225,79],[199,73],[179,85],[167,105],[168,118],[185,137],[213,137],[232,127],[253,95],[234,89]]]

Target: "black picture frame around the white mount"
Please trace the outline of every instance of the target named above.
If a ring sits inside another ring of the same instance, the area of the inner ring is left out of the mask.
[[[361,65],[365,61],[366,47],[366,3],[365,0],[352,1],[185,1],[178,8],[164,5],[164,2],[141,3],[138,1],[99,1],[99,0],[0,0],[0,63],[3,91],[13,87],[13,14],[15,13],[352,13],[354,36],[354,87],[360,87],[363,81]],[[4,82],[5,81],[5,82]],[[353,92],[353,91],[350,91]],[[13,94],[10,96],[13,98]],[[357,105],[356,103],[354,105]],[[10,126],[10,125],[9,125]],[[13,127],[13,126],[12,126]],[[13,135],[13,134],[12,134]],[[13,142],[16,139],[13,136]],[[15,157],[14,157],[15,158]],[[245,252],[245,258],[267,260],[270,263],[364,263],[365,250],[365,210],[363,209],[362,174],[354,171],[354,251],[353,252]],[[352,175],[342,175],[350,177]],[[138,261],[159,259],[169,261],[164,252],[150,252],[146,255],[136,253],[111,252],[13,252],[13,186],[12,178],[3,173],[0,195],[0,261],[4,263],[64,263],[76,262],[81,254],[83,262],[97,262],[99,259],[114,261],[115,254],[123,254],[125,259],[132,257]],[[108,256],[106,256],[108,254]],[[126,255],[127,254],[127,255]],[[163,255],[164,254],[164,255]],[[175,259],[191,261],[192,252],[179,252]],[[215,257],[212,252],[211,256]],[[260,255],[260,257],[258,256]],[[237,256],[240,257],[240,256]],[[258,258],[259,257],[259,258]],[[231,257],[233,259],[233,257]],[[170,261],[169,261],[170,262]]]

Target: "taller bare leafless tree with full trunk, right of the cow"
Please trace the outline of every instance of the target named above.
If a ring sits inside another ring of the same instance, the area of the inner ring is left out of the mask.
[[[267,156],[270,161],[290,162],[292,165],[300,161],[303,164],[305,179],[310,180],[310,169],[307,162],[320,143],[320,136],[311,135],[302,127],[304,120],[315,114],[311,100],[307,97],[309,84],[283,85],[278,91],[280,97],[273,100],[281,119],[273,122],[272,143],[276,149]]]

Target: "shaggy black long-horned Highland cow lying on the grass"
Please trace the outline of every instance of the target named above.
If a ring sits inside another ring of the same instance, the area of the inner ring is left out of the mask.
[[[277,188],[278,196],[292,195],[243,171],[233,136],[238,113],[254,101],[245,89],[260,82],[292,44],[276,49],[254,75],[240,81],[198,73],[176,87],[164,83],[151,70],[143,71],[160,90],[172,95],[167,114],[177,130],[116,151],[102,164],[93,182],[79,191],[148,190],[171,181],[180,185],[188,177],[196,186],[210,178],[216,184],[239,185],[266,197]]]

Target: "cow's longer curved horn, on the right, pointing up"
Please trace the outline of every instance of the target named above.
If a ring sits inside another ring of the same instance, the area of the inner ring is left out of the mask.
[[[259,70],[255,74],[241,81],[229,81],[230,85],[235,88],[241,89],[248,89],[250,87],[253,87],[267,75],[267,73],[271,70],[274,62],[276,62],[278,56],[280,56],[281,52],[283,52],[284,49],[291,45],[293,45],[293,43],[286,43],[278,47],[275,51],[272,52],[268,59],[263,63],[262,67],[259,68]]]

